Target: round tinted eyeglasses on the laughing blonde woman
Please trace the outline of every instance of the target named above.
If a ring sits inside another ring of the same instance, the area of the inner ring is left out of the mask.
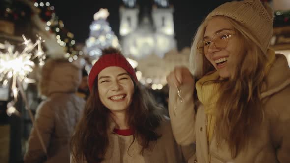
[[[197,50],[200,54],[207,54],[211,43],[218,49],[224,49],[227,47],[229,38],[234,34],[216,33],[211,39],[205,38],[197,44]]]

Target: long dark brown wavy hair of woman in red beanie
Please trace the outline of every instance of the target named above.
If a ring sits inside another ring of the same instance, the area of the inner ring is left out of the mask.
[[[111,51],[110,51],[111,52]],[[133,141],[136,140],[142,146],[140,151],[149,147],[149,142],[156,141],[158,135],[156,128],[161,122],[161,111],[148,92],[140,83],[134,82],[134,94],[132,103],[127,109],[128,124],[133,129]],[[95,79],[92,92],[87,100],[82,118],[77,124],[75,133],[71,139],[71,151],[73,159],[79,163],[100,163],[105,158],[109,145],[110,110],[100,101],[98,94],[98,78]]]

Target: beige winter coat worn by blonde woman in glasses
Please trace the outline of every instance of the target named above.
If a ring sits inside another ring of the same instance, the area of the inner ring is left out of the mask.
[[[169,111],[174,137],[178,144],[196,144],[198,163],[290,163],[290,69],[284,55],[276,54],[269,71],[268,86],[262,91],[265,117],[250,137],[249,146],[235,159],[228,146],[213,136],[208,145],[206,115],[203,105],[195,112],[193,87],[181,87],[183,102],[177,101],[176,89],[169,90]],[[174,115],[174,104],[177,112]],[[210,155],[209,155],[210,154]]]

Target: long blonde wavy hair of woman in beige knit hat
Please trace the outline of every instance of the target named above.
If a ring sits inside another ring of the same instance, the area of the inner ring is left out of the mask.
[[[221,16],[219,16],[221,17]],[[196,79],[215,70],[205,55],[197,51],[211,17],[198,28],[190,54],[190,69]],[[259,41],[247,28],[231,18],[224,17],[235,30],[240,48],[234,57],[228,58],[230,77],[220,82],[220,97],[217,102],[215,134],[217,141],[225,140],[233,158],[245,148],[254,134],[253,126],[263,120],[261,87],[266,76],[266,54],[259,48]],[[251,126],[250,126],[251,125]]]

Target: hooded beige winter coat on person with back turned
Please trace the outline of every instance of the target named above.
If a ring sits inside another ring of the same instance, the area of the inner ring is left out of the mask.
[[[49,61],[43,67],[41,92],[48,98],[36,110],[35,125],[44,140],[48,158],[32,128],[25,163],[69,163],[69,141],[85,101],[75,92],[81,71],[71,63]]]

